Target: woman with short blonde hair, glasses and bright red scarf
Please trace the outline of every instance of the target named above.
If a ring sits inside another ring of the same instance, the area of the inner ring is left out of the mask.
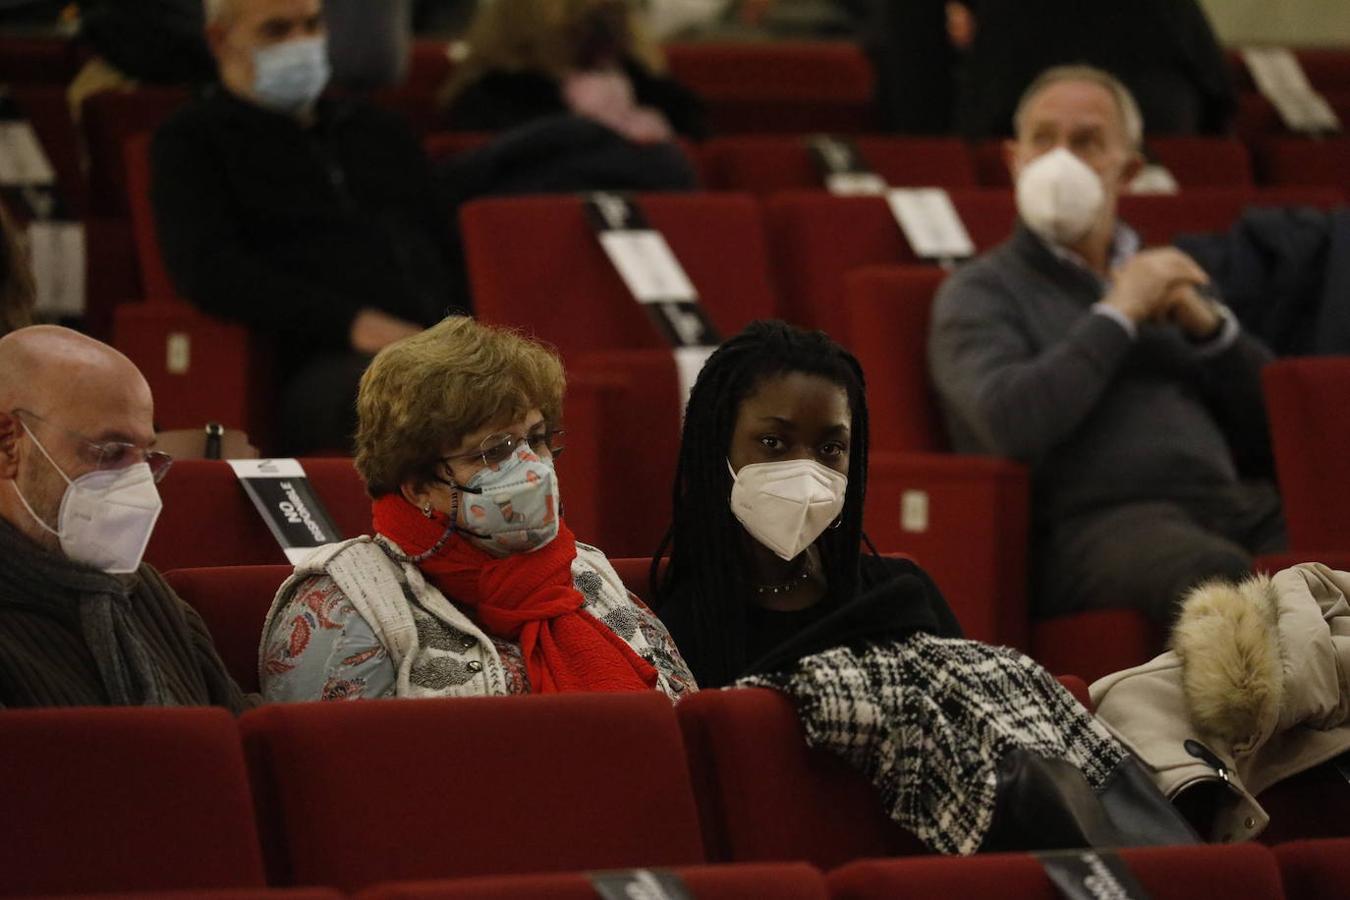
[[[666,627],[560,515],[556,354],[455,317],[356,399],[374,536],[320,548],[263,627],[267,700],[694,690]]]

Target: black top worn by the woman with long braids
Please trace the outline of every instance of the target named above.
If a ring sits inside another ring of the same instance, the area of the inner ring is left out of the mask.
[[[961,637],[961,625],[927,573],[910,560],[864,555],[859,594],[846,603],[829,598],[780,613],[745,606],[744,672],[724,677],[711,648],[701,646],[687,594],[676,586],[656,610],[702,688],[724,687],[742,675],[791,665],[802,656],[869,640],[899,640],[923,631]]]

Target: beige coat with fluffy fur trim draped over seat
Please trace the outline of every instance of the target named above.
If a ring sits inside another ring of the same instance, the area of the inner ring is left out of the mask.
[[[1350,750],[1347,677],[1350,572],[1305,563],[1196,588],[1170,650],[1091,692],[1098,718],[1169,797],[1204,780],[1228,783],[1231,803],[1207,835],[1227,842],[1266,827],[1262,791]]]

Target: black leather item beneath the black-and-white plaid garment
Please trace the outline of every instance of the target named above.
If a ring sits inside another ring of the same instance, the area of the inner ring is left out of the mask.
[[[1133,756],[1094,791],[1077,766],[1018,749],[999,762],[980,853],[1184,843],[1203,842]]]

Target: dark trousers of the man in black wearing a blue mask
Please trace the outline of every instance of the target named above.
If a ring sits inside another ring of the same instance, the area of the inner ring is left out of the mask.
[[[278,455],[351,453],[356,387],[369,364],[364,354],[332,354],[309,360],[288,378],[281,389]]]

